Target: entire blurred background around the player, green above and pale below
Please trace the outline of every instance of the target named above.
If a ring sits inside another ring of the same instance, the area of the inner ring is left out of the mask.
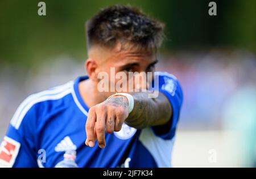
[[[256,0],[0,1],[0,141],[32,93],[85,75],[85,21],[133,5],[166,23],[158,71],[179,79],[184,101],[174,167],[256,167]],[[216,151],[217,160],[209,160]]]

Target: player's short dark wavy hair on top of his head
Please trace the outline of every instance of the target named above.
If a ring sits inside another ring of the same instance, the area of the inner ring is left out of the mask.
[[[163,41],[164,24],[136,7],[114,5],[86,22],[87,46],[113,48],[117,41],[141,50],[156,50]]]

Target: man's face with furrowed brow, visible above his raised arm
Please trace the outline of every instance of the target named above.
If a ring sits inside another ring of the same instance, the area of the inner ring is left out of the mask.
[[[94,58],[93,60],[97,63],[96,75],[106,73],[109,76],[109,91],[106,92],[106,96],[115,92],[131,92],[135,88],[147,88],[147,82],[150,82],[150,79],[147,79],[147,73],[154,73],[155,64],[158,62],[154,54],[150,52],[139,52],[134,49],[120,50],[118,45],[113,50],[94,50],[91,53],[91,58]],[[133,76],[131,76],[132,74]],[[123,78],[124,75],[126,78]],[[132,79],[133,81],[131,81]],[[122,83],[122,91],[117,90],[118,82]],[[125,83],[126,87],[123,86]],[[131,84],[133,84],[132,87]],[[114,85],[114,91],[110,90],[111,85]]]

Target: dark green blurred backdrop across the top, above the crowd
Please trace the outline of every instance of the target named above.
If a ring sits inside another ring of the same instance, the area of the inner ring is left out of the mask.
[[[141,7],[166,23],[162,52],[214,46],[255,51],[255,0],[214,1],[217,16],[208,15],[206,0],[46,0],[46,16],[38,15],[38,2],[0,1],[0,65],[30,67],[62,54],[84,60],[85,20],[116,3]]]

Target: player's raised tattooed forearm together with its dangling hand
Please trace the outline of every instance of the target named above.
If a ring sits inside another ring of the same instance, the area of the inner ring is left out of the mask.
[[[105,131],[112,134],[122,129],[123,122],[127,125],[142,129],[148,126],[160,127],[171,118],[171,105],[167,98],[160,93],[155,99],[148,98],[148,93],[131,93],[134,97],[134,108],[129,113],[129,100],[122,95],[110,97],[109,99],[92,106],[86,120],[87,146],[93,147],[96,140],[98,146],[104,148],[106,145]],[[157,131],[157,130],[155,130]]]

